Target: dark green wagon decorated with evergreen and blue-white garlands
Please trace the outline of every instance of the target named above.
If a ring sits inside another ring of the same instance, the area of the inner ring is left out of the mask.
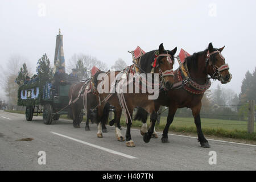
[[[26,120],[32,121],[34,116],[43,113],[43,121],[51,125],[57,121],[60,114],[68,114],[68,92],[71,85],[60,85],[59,96],[53,96],[53,86],[50,82],[45,84],[34,82],[20,86],[18,90],[18,105],[26,106]],[[82,116],[81,116],[82,117]]]

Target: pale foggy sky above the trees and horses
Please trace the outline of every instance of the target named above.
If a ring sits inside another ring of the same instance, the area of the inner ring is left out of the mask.
[[[212,42],[216,48],[226,46],[222,55],[233,78],[223,87],[240,93],[246,71],[253,72],[256,66],[255,7],[253,0],[1,0],[0,61],[5,68],[11,55],[24,56],[34,74],[44,53],[53,63],[59,28],[66,64],[73,53],[85,53],[109,68],[119,57],[130,65],[127,51],[137,46],[146,52],[158,49],[160,43],[166,49],[177,46],[177,55],[180,48],[192,54]]]

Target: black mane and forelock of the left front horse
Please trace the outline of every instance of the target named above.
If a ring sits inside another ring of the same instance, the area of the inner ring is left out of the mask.
[[[140,60],[139,64],[141,65],[141,69],[146,73],[151,72],[151,68],[152,68],[151,64],[155,59],[155,51],[158,51],[158,50],[146,52],[144,55],[141,56],[141,60]],[[171,55],[171,51],[164,50],[164,53],[166,53],[166,51]],[[174,57],[172,56],[171,59],[173,60]]]

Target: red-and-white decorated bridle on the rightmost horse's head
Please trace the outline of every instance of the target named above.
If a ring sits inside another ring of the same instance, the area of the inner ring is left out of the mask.
[[[205,63],[206,63],[206,69],[207,69],[207,66],[208,66],[208,63],[209,65],[212,65],[212,69],[214,71],[213,75],[210,75],[210,78],[212,78],[213,80],[220,80],[220,78],[222,77],[221,73],[222,71],[225,71],[226,69],[229,69],[229,65],[228,64],[223,64],[221,65],[220,67],[217,67],[216,64],[213,63],[213,61],[210,60],[210,56],[213,55],[214,53],[218,53],[221,57],[221,59],[223,61],[225,61],[225,58],[224,56],[221,55],[221,52],[220,51],[213,51],[213,52],[207,52],[207,59],[205,60]],[[232,78],[232,75],[230,74],[230,78],[229,80],[231,80]]]

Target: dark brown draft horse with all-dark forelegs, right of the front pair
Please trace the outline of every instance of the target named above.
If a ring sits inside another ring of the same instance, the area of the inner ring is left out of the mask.
[[[221,55],[224,47],[216,49],[213,48],[212,43],[210,43],[205,51],[197,52],[192,56],[187,57],[185,59],[185,64],[187,64],[189,80],[195,81],[199,85],[205,85],[209,81],[209,75],[210,78],[213,78],[214,80],[217,79],[221,81],[222,84],[229,82],[232,78],[232,75],[228,71],[228,64],[225,64],[225,59]],[[179,69],[180,68],[175,71],[175,84],[180,81],[178,76]],[[156,106],[163,105],[169,107],[167,123],[163,130],[162,142],[169,143],[168,130],[172,121],[174,120],[176,110],[178,108],[188,107],[191,108],[193,117],[195,119],[198,141],[200,142],[201,147],[209,148],[210,145],[208,140],[205,139],[201,129],[200,118],[201,99],[204,96],[204,92],[200,93],[198,92],[199,90],[195,89],[189,90],[184,87],[185,84],[187,84],[187,81],[184,79],[182,81],[183,85],[181,85],[180,88],[169,90],[167,96],[165,94],[159,94],[158,100],[155,101]],[[195,90],[195,92],[197,91],[197,94],[192,93],[193,90]],[[146,123],[146,111],[143,109],[138,109],[134,119],[139,119],[142,120],[143,123]]]

